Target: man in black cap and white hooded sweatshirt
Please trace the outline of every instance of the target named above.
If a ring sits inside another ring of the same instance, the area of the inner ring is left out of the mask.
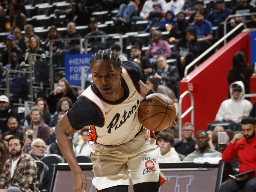
[[[244,99],[244,84],[236,81],[229,86],[231,98],[223,101],[213,123],[229,122],[235,131],[236,124],[245,116],[249,116],[252,103]]]

